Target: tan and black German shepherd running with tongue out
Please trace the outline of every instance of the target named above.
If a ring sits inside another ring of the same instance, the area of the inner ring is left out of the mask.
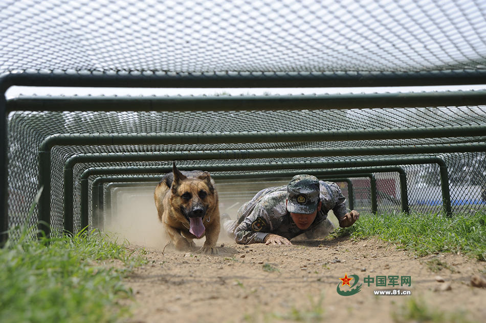
[[[192,240],[206,235],[200,252],[217,253],[218,195],[208,172],[181,172],[173,163],[172,173],[162,177],[153,197],[159,220],[176,249],[194,249]]]

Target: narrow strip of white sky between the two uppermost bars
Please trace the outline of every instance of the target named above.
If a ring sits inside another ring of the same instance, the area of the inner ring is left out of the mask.
[[[20,95],[52,96],[199,96],[229,95],[300,95],[300,94],[347,94],[347,93],[396,93],[447,90],[486,89],[486,84],[443,86],[397,86],[397,87],[295,87],[295,88],[119,88],[119,87],[34,87],[12,86],[7,90],[7,99]]]

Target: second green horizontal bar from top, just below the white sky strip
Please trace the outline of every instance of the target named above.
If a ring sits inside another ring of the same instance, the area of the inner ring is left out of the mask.
[[[481,105],[486,90],[421,93],[329,94],[220,97],[19,97],[9,111],[234,111],[286,109],[361,109]]]

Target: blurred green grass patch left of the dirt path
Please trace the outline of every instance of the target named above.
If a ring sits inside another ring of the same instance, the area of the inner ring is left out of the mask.
[[[49,240],[23,232],[0,249],[2,322],[115,322],[129,315],[119,304],[131,296],[122,278],[145,262],[142,256],[95,232]]]

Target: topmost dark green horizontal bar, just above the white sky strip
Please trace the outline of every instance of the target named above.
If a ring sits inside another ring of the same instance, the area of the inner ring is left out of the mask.
[[[89,72],[89,71],[87,71]],[[4,74],[10,86],[79,87],[363,87],[486,84],[484,70],[419,72],[142,72],[130,73],[30,73]]]

